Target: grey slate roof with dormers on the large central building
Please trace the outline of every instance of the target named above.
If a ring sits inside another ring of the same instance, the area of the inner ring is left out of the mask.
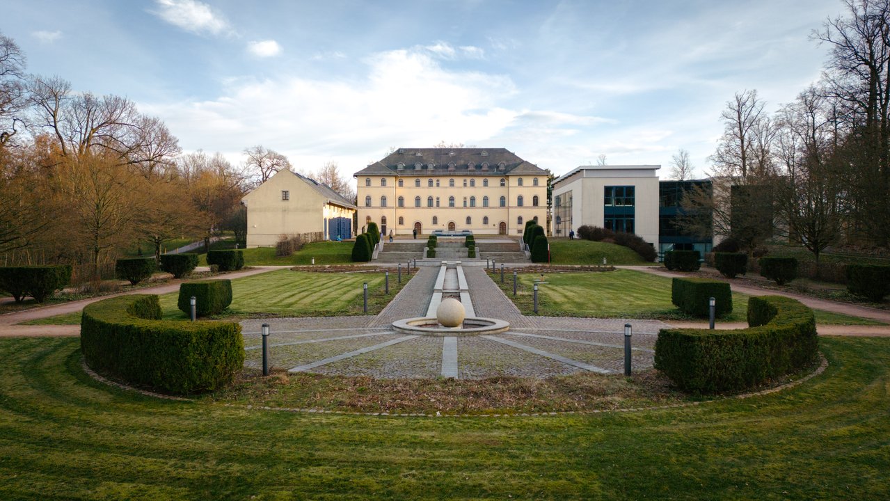
[[[488,164],[483,169],[483,164]],[[501,166],[501,169],[498,169]],[[506,148],[400,148],[352,174],[431,176],[454,174],[539,174],[546,171]]]

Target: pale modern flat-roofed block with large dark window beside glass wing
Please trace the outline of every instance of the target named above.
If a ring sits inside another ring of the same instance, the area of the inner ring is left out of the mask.
[[[636,233],[659,245],[661,166],[580,166],[553,183],[553,233],[582,225]]]

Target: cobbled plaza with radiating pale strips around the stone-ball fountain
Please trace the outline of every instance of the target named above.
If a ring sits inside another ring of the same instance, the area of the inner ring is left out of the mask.
[[[376,316],[250,319],[241,322],[248,368],[260,368],[260,334],[270,325],[273,368],[340,376],[381,378],[495,376],[548,377],[577,372],[620,373],[624,325],[633,327],[633,368],[651,368],[658,320],[526,317],[478,267],[464,274],[476,316],[504,319],[498,335],[406,335],[395,320],[422,317],[433,296],[438,268],[420,268]]]

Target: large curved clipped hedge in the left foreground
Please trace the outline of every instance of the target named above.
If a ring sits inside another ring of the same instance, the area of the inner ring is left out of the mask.
[[[157,295],[121,295],[87,305],[80,324],[86,364],[130,384],[177,394],[231,383],[244,365],[239,324],[160,318]]]

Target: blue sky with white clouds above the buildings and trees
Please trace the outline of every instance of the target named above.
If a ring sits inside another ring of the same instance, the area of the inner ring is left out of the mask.
[[[504,147],[555,174],[595,163],[695,174],[732,94],[774,110],[818,79],[809,39],[839,0],[0,0],[28,71],[114,93],[186,151],[262,144],[345,174],[391,147]]]

